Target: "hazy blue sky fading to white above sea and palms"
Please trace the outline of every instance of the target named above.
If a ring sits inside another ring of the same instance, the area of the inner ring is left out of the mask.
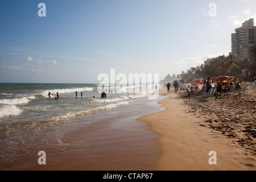
[[[255,0],[1,0],[0,82],[98,83],[110,69],[162,80],[228,55],[249,18]]]

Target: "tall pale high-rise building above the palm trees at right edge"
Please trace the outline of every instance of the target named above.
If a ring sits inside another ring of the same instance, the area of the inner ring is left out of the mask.
[[[251,18],[242,23],[242,27],[236,28],[236,33],[231,34],[232,52],[236,60],[250,58],[250,48],[256,46],[256,26]]]

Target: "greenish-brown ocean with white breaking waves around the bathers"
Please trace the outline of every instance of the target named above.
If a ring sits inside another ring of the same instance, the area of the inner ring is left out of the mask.
[[[136,86],[141,87],[132,88]],[[148,100],[146,92],[127,92],[129,86],[121,89],[104,90],[106,98],[101,98],[98,84],[0,83],[0,169],[35,169],[38,163],[31,160],[44,150],[54,166],[68,152],[81,151],[80,141],[62,139],[66,133],[97,121],[159,111],[161,96]]]

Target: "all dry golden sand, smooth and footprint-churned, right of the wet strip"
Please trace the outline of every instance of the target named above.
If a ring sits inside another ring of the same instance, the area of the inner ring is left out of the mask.
[[[161,155],[156,170],[255,170],[255,90],[245,96],[179,98],[174,88],[160,94],[166,110],[145,115],[160,135]],[[216,152],[216,165],[208,155]]]

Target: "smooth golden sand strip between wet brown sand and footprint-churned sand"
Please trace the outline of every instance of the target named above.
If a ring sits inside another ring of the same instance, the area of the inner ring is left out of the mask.
[[[157,171],[226,171],[255,170],[255,155],[246,148],[223,137],[204,125],[205,119],[189,112],[188,105],[174,92],[163,89],[160,94],[168,96],[159,101],[166,110],[144,115],[139,121],[150,123],[150,128],[159,134],[161,155]],[[217,164],[210,165],[208,155],[216,151]]]

